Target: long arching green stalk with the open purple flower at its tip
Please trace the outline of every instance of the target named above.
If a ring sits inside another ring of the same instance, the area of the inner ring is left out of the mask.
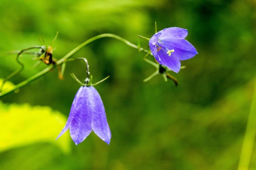
[[[155,29],[156,29],[156,27],[155,27]],[[60,66],[63,66],[61,71],[59,72],[60,75],[63,75],[64,70],[65,70],[65,62],[67,62],[68,59],[72,55],[74,55],[77,51],[82,49],[84,46],[86,46],[86,45],[90,44],[91,42],[98,40],[100,38],[114,38],[121,42],[124,42],[126,45],[128,45],[132,48],[135,48],[135,49],[138,49],[139,51],[147,53],[147,55],[152,55],[153,57],[155,57],[155,60],[159,64],[167,66],[172,71],[178,73],[181,68],[180,60],[187,60],[197,54],[197,51],[193,47],[193,45],[190,44],[188,41],[184,40],[186,35],[187,35],[186,29],[181,29],[181,28],[177,28],[177,27],[166,28],[162,31],[159,31],[159,32],[155,33],[155,35],[153,35],[153,37],[151,37],[150,39],[139,35],[139,37],[149,40],[150,51],[141,48],[139,44],[138,45],[132,44],[131,42],[127,41],[126,39],[121,38],[120,36],[115,35],[115,34],[104,33],[104,34],[97,35],[95,37],[90,38],[89,40],[86,40],[79,46],[77,46],[75,49],[73,49],[72,51],[67,53],[67,55],[62,57],[60,60],[58,60],[56,62],[54,61],[53,64],[49,65],[43,71],[40,71],[36,75],[29,77],[28,79],[24,80],[23,82],[20,82],[19,84],[15,85],[13,88],[10,88],[5,91],[0,91],[0,98],[3,97],[4,95],[7,95],[7,94],[15,91],[18,88],[21,88],[22,86],[25,86],[26,84],[29,84],[30,82],[38,79],[39,77],[41,77],[41,76],[45,75],[46,73],[48,73],[49,71],[51,71],[56,66],[58,68],[60,68]],[[54,38],[54,40],[55,39],[56,39],[56,37]],[[31,48],[42,48],[42,46],[35,46],[35,47],[31,47]],[[31,48],[28,48],[28,49],[31,49]],[[25,49],[22,51],[16,51],[16,52],[19,52],[18,53],[18,56],[19,56],[19,54],[22,52],[30,53],[30,52],[27,52],[28,49]],[[22,66],[21,69],[23,69],[23,64],[18,61],[18,56],[17,56],[16,60]],[[20,73],[20,69],[13,73],[15,75]],[[89,77],[89,74],[90,74],[89,71],[87,74],[88,74],[87,76]],[[157,74],[154,73],[153,75],[157,75]],[[13,76],[13,75],[11,75],[11,76]],[[167,78],[170,78],[170,76],[167,76]],[[8,79],[10,79],[10,78],[7,77],[7,79],[5,79],[4,82],[7,81]],[[170,78],[170,79],[172,79],[172,78]],[[146,80],[148,80],[148,79],[146,79]]]

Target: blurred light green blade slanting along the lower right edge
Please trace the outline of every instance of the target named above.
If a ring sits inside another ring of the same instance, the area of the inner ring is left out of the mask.
[[[245,137],[240,155],[238,170],[248,170],[249,163],[252,156],[252,149],[256,134],[256,83],[254,88],[254,95],[250,108],[250,113],[247,121]]]

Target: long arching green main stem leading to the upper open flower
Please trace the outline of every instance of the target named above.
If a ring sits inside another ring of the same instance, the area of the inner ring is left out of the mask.
[[[121,38],[119,37],[118,35],[115,35],[115,34],[111,34],[111,33],[104,33],[104,34],[100,34],[100,35],[97,35],[93,38],[90,38],[89,40],[83,42],[82,44],[80,44],[79,46],[77,46],[75,49],[73,49],[72,51],[70,51],[69,53],[67,53],[67,55],[65,55],[64,57],[62,57],[60,60],[58,60],[55,65],[58,66],[58,65],[61,65],[63,64],[64,62],[66,62],[66,60],[68,58],[70,58],[74,53],[76,53],[77,51],[79,51],[80,49],[82,49],[84,46],[90,44],[91,42],[95,41],[95,40],[98,40],[100,38],[106,38],[106,37],[109,37],[109,38],[115,38],[121,42],[124,42],[125,44],[127,44],[128,46],[134,48],[134,49],[139,49],[139,51],[143,51],[145,53],[148,53],[149,51],[146,50],[146,49],[143,49],[135,44],[132,44],[131,42],[127,41],[126,39],[124,38]],[[36,46],[36,47],[39,47],[39,46]],[[30,49],[30,48],[29,48]],[[26,49],[27,50],[27,49]],[[16,86],[14,86],[13,88],[11,89],[8,89],[6,91],[3,91],[0,93],[0,97],[3,97],[4,95],[7,95],[8,93],[11,93],[13,91],[15,91],[16,89],[22,87],[22,86],[25,86],[26,84],[29,84],[30,82],[38,79],[39,77],[45,75],[46,73],[48,73],[49,71],[52,70],[52,68],[54,68],[54,65],[51,65],[51,66],[48,66],[47,68],[45,68],[43,71],[40,71],[39,73],[37,73],[36,75],[32,76],[32,77],[29,77],[28,79],[26,79],[25,81],[23,82],[20,82],[19,84],[17,84]]]

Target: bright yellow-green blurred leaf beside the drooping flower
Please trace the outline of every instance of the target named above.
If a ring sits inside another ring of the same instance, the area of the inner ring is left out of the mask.
[[[51,143],[67,153],[70,137],[65,133],[55,140],[67,118],[48,106],[3,104],[0,102],[0,152],[34,143]]]

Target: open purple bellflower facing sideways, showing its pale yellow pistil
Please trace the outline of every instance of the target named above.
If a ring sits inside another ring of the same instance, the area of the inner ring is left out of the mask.
[[[170,27],[153,35],[149,40],[150,51],[159,64],[167,66],[172,71],[180,71],[180,60],[188,60],[198,52],[187,40],[186,29]]]

